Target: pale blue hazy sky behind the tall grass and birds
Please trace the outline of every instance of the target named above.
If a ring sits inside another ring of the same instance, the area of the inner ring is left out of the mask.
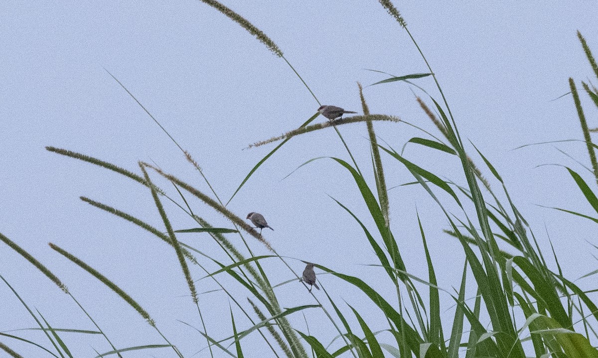
[[[426,72],[407,34],[377,1],[224,4],[279,45],[322,103],[361,111],[356,81],[367,85],[385,78],[365,69],[395,75]],[[545,253],[550,253],[550,235],[566,276],[577,279],[593,271],[594,249],[585,240],[598,244],[595,224],[539,207],[557,206],[591,215],[590,206],[565,169],[535,167],[563,164],[591,183],[590,174],[550,145],[511,149],[582,138],[570,96],[551,100],[569,91],[569,77],[578,81],[591,78],[575,31],[581,30],[598,53],[596,1],[409,1],[395,5],[443,85],[460,133],[499,170]],[[242,149],[297,127],[315,113],[318,104],[282,59],[199,1],[89,4],[9,0],[0,4],[0,33],[0,232],[65,281],[118,347],[161,341],[135,311],[53,252],[48,241],[74,253],[123,287],[190,357],[205,347],[205,339],[177,322],[200,327],[173,250],[78,198],[85,195],[161,228],[149,191],[107,170],[47,152],[44,146],[89,154],[134,172],[139,172],[138,160],[153,160],[166,172],[209,191],[179,149],[103,70],[106,68],[193,154],[218,194],[228,198],[273,145]],[[437,96],[431,78],[416,82]],[[366,88],[364,93],[371,112],[396,115],[436,133],[414,100],[412,89],[395,82]],[[591,108],[585,97],[583,100],[590,126],[598,126],[596,108]],[[371,166],[365,125],[352,124],[340,130],[362,170],[368,172]],[[376,124],[376,130],[395,149],[413,136],[422,136],[404,124]],[[557,146],[587,164],[582,144]],[[378,278],[380,269],[364,266],[377,260],[361,228],[327,195],[371,225],[349,174],[322,160],[280,181],[304,161],[321,156],[349,160],[332,130],[291,140],[252,176],[229,209],[243,218],[251,211],[263,213],[276,229],[265,235],[281,255],[363,277],[380,293],[392,297],[392,287]],[[464,182],[454,158],[416,146],[408,146],[405,156],[432,172]],[[383,159],[388,163],[389,186],[413,180],[396,161]],[[367,179],[372,183],[371,174]],[[166,182],[160,184],[169,187]],[[493,182],[493,186],[498,189],[498,183]],[[393,189],[390,200],[393,232],[408,270],[420,277],[427,275],[417,231],[417,206],[439,284],[447,289],[457,286],[462,249],[443,234],[447,223],[437,205],[416,186]],[[193,207],[213,225],[230,226],[202,203],[194,201]],[[176,207],[167,205],[167,210],[176,228],[195,226]],[[187,234],[179,238],[225,259],[208,237]],[[231,240],[238,241],[234,236]],[[257,242],[250,242],[257,254],[267,253]],[[0,274],[53,326],[93,328],[72,301],[21,256],[4,245],[0,245],[0,255]],[[297,271],[303,270],[303,264],[291,262]],[[215,270],[209,262],[205,264]],[[277,261],[264,261],[264,267],[271,272],[273,283],[292,277]],[[194,278],[203,276],[194,270]],[[244,301],[248,293],[221,278]],[[386,328],[379,311],[362,304],[360,293],[329,276],[320,279],[337,302],[345,299],[355,304],[375,331]],[[579,284],[595,288],[592,280]],[[214,288],[212,282],[204,280],[198,290]],[[282,286],[277,293],[283,307],[315,303],[298,283]],[[444,298],[443,309],[448,309],[449,298]],[[0,331],[35,326],[2,285],[0,302]],[[231,335],[224,293],[202,295],[200,304],[210,335]],[[335,333],[321,311],[305,312],[310,331],[322,342],[329,342]],[[248,328],[249,322],[239,310],[235,314],[240,329]],[[452,310],[444,314],[445,328],[450,328]],[[290,319],[306,331],[303,317]],[[28,336],[48,345],[39,334]],[[64,338],[78,357],[94,356],[93,348],[109,350],[95,336],[65,334]],[[24,356],[41,354],[19,342],[2,341]],[[243,347],[249,356],[257,356],[264,344],[257,335],[251,335],[243,340]],[[154,356],[173,354],[161,350]],[[147,352],[127,357],[147,357]]]

